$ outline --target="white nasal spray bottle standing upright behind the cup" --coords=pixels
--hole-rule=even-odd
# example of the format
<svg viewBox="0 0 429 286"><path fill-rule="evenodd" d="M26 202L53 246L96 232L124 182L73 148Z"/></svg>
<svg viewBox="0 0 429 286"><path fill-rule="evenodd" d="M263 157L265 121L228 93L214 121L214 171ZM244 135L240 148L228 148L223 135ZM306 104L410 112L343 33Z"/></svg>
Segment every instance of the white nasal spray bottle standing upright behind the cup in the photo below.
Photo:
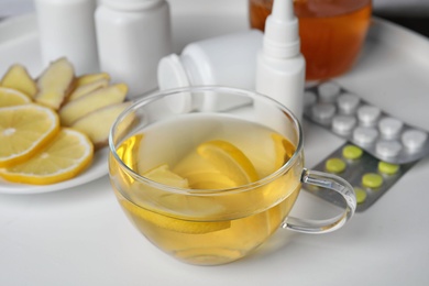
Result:
<svg viewBox="0 0 429 286"><path fill-rule="evenodd" d="M256 61L256 91L283 103L301 120L306 62L293 0L274 0Z"/></svg>

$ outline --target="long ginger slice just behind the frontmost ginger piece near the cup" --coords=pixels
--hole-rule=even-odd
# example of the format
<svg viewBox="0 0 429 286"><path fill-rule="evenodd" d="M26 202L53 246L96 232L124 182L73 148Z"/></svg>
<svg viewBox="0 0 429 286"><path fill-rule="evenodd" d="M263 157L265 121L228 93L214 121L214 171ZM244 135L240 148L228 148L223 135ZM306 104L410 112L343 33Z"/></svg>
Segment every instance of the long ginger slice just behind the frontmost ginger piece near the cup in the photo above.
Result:
<svg viewBox="0 0 429 286"><path fill-rule="evenodd" d="M58 112L61 122L65 127L70 127L79 118L99 108L122 102L125 99L127 92L127 85L117 84L97 89L86 96L69 101Z"/></svg>

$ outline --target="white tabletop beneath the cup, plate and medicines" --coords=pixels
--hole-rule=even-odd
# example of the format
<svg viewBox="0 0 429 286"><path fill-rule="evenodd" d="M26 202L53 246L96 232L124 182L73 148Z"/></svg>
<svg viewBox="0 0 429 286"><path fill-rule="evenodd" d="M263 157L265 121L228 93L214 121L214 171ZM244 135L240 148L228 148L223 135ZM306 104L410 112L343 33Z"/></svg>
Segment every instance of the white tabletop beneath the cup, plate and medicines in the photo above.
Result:
<svg viewBox="0 0 429 286"><path fill-rule="evenodd" d="M173 4L176 50L245 29L245 1L229 3ZM213 28L211 20L221 23ZM33 74L41 68L34 18L23 21L18 41L0 40L0 73L18 59ZM13 50L7 57L4 45ZM377 21L361 61L339 81L428 130L428 55L425 38ZM318 127L304 128L307 166L343 143ZM428 175L425 158L342 230L278 231L253 255L215 267L183 264L156 250L128 221L107 176L62 191L0 195L0 285L429 285ZM316 201L302 193L294 212Z"/></svg>

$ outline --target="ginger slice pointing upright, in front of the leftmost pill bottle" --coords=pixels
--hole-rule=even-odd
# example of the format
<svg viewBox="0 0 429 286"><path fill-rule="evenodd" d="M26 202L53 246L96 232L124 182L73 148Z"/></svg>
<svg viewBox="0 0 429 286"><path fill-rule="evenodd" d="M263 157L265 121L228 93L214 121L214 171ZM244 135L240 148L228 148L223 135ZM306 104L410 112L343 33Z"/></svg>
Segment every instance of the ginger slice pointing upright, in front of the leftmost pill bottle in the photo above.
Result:
<svg viewBox="0 0 429 286"><path fill-rule="evenodd" d="M52 62L37 79L38 92L35 101L58 110L75 82L75 68L67 58Z"/></svg>

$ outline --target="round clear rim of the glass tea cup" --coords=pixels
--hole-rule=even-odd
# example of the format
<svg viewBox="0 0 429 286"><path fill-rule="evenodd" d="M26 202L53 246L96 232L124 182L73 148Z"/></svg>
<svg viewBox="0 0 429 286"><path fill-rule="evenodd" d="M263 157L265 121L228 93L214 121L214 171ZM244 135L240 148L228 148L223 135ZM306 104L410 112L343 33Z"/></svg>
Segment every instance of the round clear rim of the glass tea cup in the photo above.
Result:
<svg viewBox="0 0 429 286"><path fill-rule="evenodd" d="M270 102L273 105L275 108L279 109L283 111L283 113L289 118L292 121L297 135L297 144L294 154L290 156L290 158L282 165L282 167L277 168L275 172L271 173L270 175L260 178L255 182L251 182L245 185L240 185L237 187L231 187L231 188L224 188L224 189L190 189L190 188L179 188L179 187L174 187L169 185L165 185L155 180L152 180L132 168L130 168L118 155L117 152L117 146L113 142L116 130L118 128L118 124L122 122L124 118L127 118L131 112L138 110L139 108L146 106L150 102L156 101L161 98L165 98L166 96L173 96L176 94L184 94L184 92L228 92L228 94L234 94L239 95L242 97L251 97L253 100L260 99L264 100L266 102ZM123 139L122 139L123 140ZM121 141L122 141L121 140ZM125 169L129 175L131 175L135 180L142 182L148 186L160 188L163 191L168 191L168 193L175 193L175 194L182 194L182 195L196 195L196 196L204 196L204 195L224 195L224 193L228 194L234 194L234 193L241 193L241 191L246 191L250 189L255 189L261 186L265 186L270 184L271 182L274 182L278 177L280 177L283 174L285 174L287 170L294 166L295 162L298 160L300 156L300 153L302 151L302 128L301 124L299 123L298 119L295 117L295 114L285 106L279 103L278 101L258 94L253 90L246 90L246 89L241 89L241 88L234 88L234 87L223 87L223 86L190 86L190 87L180 87L180 88L173 88L173 89L166 89L166 90L156 90L152 91L147 95L144 95L143 98L140 98L135 100L130 107L128 107L125 110L123 110L119 117L114 120L110 132L109 132L109 151L113 155L114 160L117 163L119 163L120 167Z"/></svg>

